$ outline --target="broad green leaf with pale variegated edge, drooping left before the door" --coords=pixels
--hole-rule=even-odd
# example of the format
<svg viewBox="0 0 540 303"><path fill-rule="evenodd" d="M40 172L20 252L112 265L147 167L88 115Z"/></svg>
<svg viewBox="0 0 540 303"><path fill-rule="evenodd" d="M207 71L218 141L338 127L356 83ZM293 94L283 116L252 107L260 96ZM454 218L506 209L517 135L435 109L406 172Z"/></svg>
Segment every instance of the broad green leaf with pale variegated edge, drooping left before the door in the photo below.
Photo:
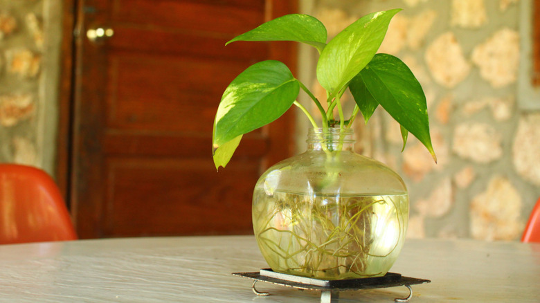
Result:
<svg viewBox="0 0 540 303"><path fill-rule="evenodd" d="M296 100L300 85L279 61L253 64L225 90L215 117L213 148L279 118Z"/></svg>

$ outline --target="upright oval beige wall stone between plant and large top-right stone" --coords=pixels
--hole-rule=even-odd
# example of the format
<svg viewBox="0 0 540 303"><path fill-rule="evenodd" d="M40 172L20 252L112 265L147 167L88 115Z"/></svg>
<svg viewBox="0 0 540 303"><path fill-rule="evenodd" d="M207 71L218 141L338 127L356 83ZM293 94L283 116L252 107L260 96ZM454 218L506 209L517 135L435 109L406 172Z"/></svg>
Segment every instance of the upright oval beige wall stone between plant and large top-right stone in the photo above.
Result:
<svg viewBox="0 0 540 303"><path fill-rule="evenodd" d="M451 32L444 33L431 42L425 58L435 81L447 88L458 85L471 71L456 36Z"/></svg>

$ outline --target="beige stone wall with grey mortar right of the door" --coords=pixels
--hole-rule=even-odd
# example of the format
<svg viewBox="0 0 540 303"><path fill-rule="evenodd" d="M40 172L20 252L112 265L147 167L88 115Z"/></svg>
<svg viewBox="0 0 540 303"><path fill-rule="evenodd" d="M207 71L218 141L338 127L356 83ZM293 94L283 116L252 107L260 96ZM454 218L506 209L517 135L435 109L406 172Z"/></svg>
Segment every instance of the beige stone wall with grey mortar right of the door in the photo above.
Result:
<svg viewBox="0 0 540 303"><path fill-rule="evenodd" d="M523 0L525 1L525 0ZM377 110L358 150L393 167L411 196L408 237L516 240L540 197L540 113L520 110L518 0L303 1L332 37L368 12L404 8L381 52L400 57L428 102L438 164ZM314 70L316 55L309 53ZM321 91L314 77L304 81ZM352 98L345 96L350 108ZM380 107L379 107L380 108Z"/></svg>

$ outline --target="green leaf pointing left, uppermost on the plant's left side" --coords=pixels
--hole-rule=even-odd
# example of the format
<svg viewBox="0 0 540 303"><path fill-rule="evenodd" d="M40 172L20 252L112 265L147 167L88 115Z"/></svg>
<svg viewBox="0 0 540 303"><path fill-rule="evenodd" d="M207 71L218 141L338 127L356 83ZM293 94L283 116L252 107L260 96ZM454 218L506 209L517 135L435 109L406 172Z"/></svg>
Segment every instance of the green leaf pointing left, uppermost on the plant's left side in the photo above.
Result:
<svg viewBox="0 0 540 303"><path fill-rule="evenodd" d="M233 38L235 41L296 41L315 46L319 53L326 45L326 28L309 15L285 15Z"/></svg>

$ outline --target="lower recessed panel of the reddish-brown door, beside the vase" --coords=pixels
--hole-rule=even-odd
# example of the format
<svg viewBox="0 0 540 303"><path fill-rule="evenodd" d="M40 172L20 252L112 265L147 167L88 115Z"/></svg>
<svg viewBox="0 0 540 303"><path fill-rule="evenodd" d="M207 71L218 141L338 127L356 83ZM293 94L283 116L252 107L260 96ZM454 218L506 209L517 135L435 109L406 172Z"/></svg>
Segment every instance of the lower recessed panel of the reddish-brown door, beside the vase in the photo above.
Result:
<svg viewBox="0 0 540 303"><path fill-rule="evenodd" d="M253 159L235 164L216 174L206 159L110 158L106 234L171 235L181 230L208 235L251 230L246 218L251 218L254 184L236 181L256 180L259 163ZM152 203L138 203L141 200Z"/></svg>

